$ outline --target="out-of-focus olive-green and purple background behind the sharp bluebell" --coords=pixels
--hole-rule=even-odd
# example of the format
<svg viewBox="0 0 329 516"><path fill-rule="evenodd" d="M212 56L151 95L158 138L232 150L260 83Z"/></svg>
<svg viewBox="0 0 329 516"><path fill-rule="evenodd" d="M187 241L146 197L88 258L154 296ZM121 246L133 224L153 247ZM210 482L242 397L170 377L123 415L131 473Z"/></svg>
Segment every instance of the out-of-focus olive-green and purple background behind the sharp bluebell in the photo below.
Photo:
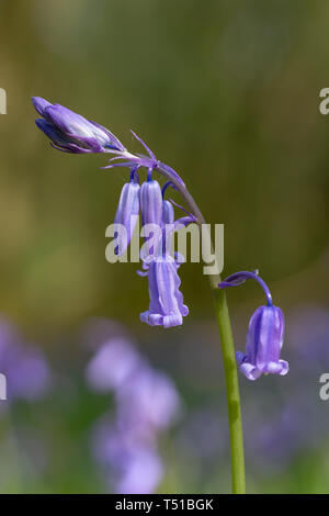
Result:
<svg viewBox="0 0 329 516"><path fill-rule="evenodd" d="M1 492L229 490L223 367L201 266L180 269L183 326L143 326L146 281L136 265L104 256L126 172L99 170L102 155L52 149L32 96L137 150L135 130L184 177L207 222L225 224L227 273L260 269L286 316L291 372L240 378L248 490L329 490L329 402L319 397L329 372L329 116L319 112L328 15L320 0L0 0L0 371L12 390L0 402ZM262 292L250 282L228 299L243 349ZM110 377L101 388L90 380L106 343L121 351L118 362L114 348L105 354L102 373L106 363L110 377L113 363L125 370L135 350L140 382L162 378L164 422L140 422L140 412L122 423L128 394L122 402ZM127 450L121 425L146 425L147 438L136 430ZM150 483L136 486L140 478Z"/></svg>

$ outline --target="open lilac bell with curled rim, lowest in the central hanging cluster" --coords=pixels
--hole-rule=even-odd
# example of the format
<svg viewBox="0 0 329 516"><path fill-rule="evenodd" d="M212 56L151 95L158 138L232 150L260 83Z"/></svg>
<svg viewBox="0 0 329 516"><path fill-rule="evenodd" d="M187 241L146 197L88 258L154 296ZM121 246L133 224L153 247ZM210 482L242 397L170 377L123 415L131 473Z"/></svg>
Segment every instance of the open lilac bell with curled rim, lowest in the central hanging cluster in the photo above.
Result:
<svg viewBox="0 0 329 516"><path fill-rule="evenodd" d="M180 291L181 280L173 258L163 256L149 263L148 290L149 309L140 314L140 321L150 326L170 328L183 324L183 316L189 309L183 304Z"/></svg>

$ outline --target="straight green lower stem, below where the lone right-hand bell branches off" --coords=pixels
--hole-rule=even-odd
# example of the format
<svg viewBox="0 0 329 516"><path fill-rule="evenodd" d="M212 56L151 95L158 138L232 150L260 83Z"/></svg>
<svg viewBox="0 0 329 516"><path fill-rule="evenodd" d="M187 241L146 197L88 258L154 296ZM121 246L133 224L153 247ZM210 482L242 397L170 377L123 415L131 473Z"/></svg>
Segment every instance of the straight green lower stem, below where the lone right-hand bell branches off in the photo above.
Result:
<svg viewBox="0 0 329 516"><path fill-rule="evenodd" d="M224 290L213 290L217 324L222 341L222 354L226 381L226 399L231 457L232 493L246 493L245 453L239 381L235 357L235 345Z"/></svg>

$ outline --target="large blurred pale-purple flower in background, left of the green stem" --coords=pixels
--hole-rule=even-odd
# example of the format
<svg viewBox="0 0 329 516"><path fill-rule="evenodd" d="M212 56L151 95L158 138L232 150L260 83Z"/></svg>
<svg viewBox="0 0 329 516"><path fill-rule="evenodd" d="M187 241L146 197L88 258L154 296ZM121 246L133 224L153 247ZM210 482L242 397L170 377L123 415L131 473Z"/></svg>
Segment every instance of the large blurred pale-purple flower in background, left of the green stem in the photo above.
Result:
<svg viewBox="0 0 329 516"><path fill-rule="evenodd" d="M115 414L92 430L97 461L117 493L152 493L164 473L161 434L177 420L181 401L173 382L155 370L134 345L107 338L90 360L86 378L98 392L112 392Z"/></svg>

